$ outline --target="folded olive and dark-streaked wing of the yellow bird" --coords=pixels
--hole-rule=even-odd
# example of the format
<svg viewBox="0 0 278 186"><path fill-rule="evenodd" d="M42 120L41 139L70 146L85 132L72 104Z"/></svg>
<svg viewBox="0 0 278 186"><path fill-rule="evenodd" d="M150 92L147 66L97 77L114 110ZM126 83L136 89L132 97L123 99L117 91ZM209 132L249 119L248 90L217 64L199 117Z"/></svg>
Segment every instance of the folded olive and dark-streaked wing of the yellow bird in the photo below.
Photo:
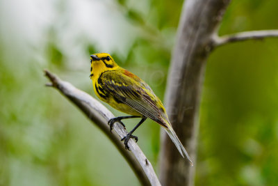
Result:
<svg viewBox="0 0 278 186"><path fill-rule="evenodd" d="M106 71L99 77L98 84L106 92L111 93L115 100L120 100L167 128L167 122L165 122L167 115L161 100L154 95L152 89L142 79L138 77L134 79L131 75L124 75L122 71Z"/></svg>

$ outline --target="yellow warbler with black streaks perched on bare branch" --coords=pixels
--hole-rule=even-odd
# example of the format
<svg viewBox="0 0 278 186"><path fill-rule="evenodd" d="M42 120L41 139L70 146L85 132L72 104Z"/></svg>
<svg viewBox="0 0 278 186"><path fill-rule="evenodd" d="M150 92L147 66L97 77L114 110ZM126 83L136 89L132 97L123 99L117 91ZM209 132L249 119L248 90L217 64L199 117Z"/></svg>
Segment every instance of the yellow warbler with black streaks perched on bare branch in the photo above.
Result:
<svg viewBox="0 0 278 186"><path fill-rule="evenodd" d="M170 124L161 100L157 98L149 85L136 75L133 75L133 73L117 65L110 54L93 54L90 56L90 61L90 79L92 79L92 85L94 86L97 97L115 109L131 115L112 118L108 121L111 130L116 121L124 125L121 122L122 119L141 118L141 121L136 127L122 139L122 141L124 140L126 149L129 149L129 139L133 138L136 142L138 141L138 137L132 135L133 132L147 118L151 118L164 127L182 157L186 155L190 164L193 165L186 149L181 144L181 141L179 141L177 134Z"/></svg>

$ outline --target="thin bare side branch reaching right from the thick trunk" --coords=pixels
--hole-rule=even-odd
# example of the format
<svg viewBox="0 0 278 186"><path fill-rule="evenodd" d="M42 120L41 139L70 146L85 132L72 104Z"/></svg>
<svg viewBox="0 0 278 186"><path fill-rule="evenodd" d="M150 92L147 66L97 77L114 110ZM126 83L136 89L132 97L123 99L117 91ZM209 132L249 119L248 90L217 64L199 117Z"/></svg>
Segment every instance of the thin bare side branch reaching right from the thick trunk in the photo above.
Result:
<svg viewBox="0 0 278 186"><path fill-rule="evenodd" d="M227 36L215 36L213 38L213 47L226 45L230 42L238 42L244 40L262 40L264 38L278 38L278 30L244 31Z"/></svg>

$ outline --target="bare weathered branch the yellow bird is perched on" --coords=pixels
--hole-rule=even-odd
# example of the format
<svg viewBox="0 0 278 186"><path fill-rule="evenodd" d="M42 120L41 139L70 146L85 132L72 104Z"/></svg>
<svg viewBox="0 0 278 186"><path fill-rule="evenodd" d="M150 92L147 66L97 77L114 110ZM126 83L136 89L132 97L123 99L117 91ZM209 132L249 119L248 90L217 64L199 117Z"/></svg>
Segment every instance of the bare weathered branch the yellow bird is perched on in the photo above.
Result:
<svg viewBox="0 0 278 186"><path fill-rule="evenodd" d="M120 139L127 134L124 127L122 127L120 123L115 123L113 132L110 132L110 127L107 123L110 118L115 117L111 111L104 107L99 101L88 95L88 93L80 91L68 82L62 81L48 70L44 70L44 72L52 83L47 84L47 86L57 88L60 93L76 104L76 106L79 107L79 109L81 109L81 111L83 111L83 113L88 116L88 118L90 118L90 120L95 123L109 139L111 139L113 144L129 163L131 169L136 173L136 176L142 185L161 185L151 162L147 160L147 157L142 153L142 150L136 142L133 139L129 140L129 148L131 151L124 148L124 144L120 141Z"/></svg>

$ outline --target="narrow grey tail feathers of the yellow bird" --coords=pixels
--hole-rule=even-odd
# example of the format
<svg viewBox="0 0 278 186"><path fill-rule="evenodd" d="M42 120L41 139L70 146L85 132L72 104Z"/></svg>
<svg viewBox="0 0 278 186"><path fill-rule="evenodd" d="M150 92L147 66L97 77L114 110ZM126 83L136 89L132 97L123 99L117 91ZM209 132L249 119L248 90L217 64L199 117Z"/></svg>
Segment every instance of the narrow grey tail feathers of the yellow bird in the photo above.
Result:
<svg viewBox="0 0 278 186"><path fill-rule="evenodd" d="M166 127L164 127L164 128L165 128L167 134L169 135L170 139L172 139L174 145L179 150L179 153L181 153L181 156L184 157L184 155L186 155L186 158L190 162L190 165L193 166L192 160L190 159L188 153L186 152L186 149L181 144L181 141L179 141L179 138L177 137L176 132L174 132L174 129L172 128L172 126L168 125L167 128Z"/></svg>

